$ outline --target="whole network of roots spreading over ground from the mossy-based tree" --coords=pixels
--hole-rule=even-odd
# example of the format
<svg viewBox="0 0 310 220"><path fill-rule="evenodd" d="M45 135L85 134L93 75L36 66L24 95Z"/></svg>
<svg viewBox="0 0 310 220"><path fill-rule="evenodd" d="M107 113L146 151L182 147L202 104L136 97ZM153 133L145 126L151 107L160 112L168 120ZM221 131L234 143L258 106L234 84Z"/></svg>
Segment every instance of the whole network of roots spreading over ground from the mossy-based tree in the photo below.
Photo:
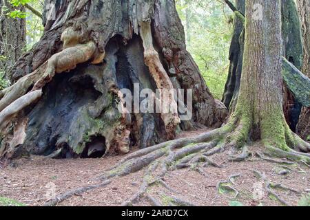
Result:
<svg viewBox="0 0 310 220"><path fill-rule="evenodd" d="M158 201L152 195L149 195L149 190L153 186L162 186L166 190L175 192L173 188L165 182L165 177L169 171L183 168L190 168L197 172L198 175L205 176L203 168L214 166L221 168L222 164L218 164L211 159L212 155L226 153L229 155L226 159L229 162L242 162L245 159L262 159L268 162L280 165L297 165L309 166L310 155L307 153L299 153L297 151L283 151L280 148L265 146L238 147L238 142L241 141L242 126L236 125L236 121L231 120L227 125L214 131L209 131L195 137L185 137L169 142L164 142L156 146L144 148L127 155L121 159L116 165L105 170L103 175L99 177L102 183L96 186L86 186L65 192L59 195L56 199L45 203L46 206L56 205L59 201L72 197L75 193L85 192L94 188L100 188L110 184L115 178L131 175L137 171L143 170L143 180L138 191L126 201L123 201L122 206L133 206L141 199L146 199L151 205L162 206L163 202ZM278 157L278 158L275 158ZM223 159L223 163L225 159ZM288 206L289 203L282 199L274 191L275 188L287 190L288 192L298 193L298 190L282 186L281 184L273 184L263 173L259 170L253 170L254 175L264 182L265 190L269 197L278 200L282 205ZM217 184L219 191L232 192L234 197L239 195L238 190L234 187L234 180L240 175L231 174L229 181L220 181ZM180 199L178 197L169 197L169 203L165 205L170 206L194 206L190 201Z"/></svg>

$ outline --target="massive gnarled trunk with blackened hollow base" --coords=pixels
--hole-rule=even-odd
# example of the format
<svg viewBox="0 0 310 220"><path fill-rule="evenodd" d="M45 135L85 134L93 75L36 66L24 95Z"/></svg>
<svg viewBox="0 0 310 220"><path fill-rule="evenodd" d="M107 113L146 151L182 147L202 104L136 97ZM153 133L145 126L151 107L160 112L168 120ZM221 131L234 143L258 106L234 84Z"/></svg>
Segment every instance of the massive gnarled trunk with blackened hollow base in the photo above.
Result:
<svg viewBox="0 0 310 220"><path fill-rule="evenodd" d="M56 16L47 19L50 12ZM47 0L43 23L41 41L14 66L17 83L2 91L0 111L10 111L0 114L16 115L13 101L30 90L43 89L42 97L6 121L0 155L100 157L174 138L178 113L118 112L119 103L127 107L121 89L134 92L134 83L193 89L193 118L182 129L226 118L186 50L173 0Z"/></svg>

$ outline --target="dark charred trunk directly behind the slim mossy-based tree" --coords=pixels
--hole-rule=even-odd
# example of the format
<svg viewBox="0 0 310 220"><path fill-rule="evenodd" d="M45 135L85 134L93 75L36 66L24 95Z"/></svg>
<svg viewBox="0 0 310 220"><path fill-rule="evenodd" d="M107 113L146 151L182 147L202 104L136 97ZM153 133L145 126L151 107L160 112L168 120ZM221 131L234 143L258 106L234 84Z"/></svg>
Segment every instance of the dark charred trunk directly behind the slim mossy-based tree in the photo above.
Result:
<svg viewBox="0 0 310 220"><path fill-rule="evenodd" d="M236 1L236 8L240 12L244 12L245 1ZM293 0L281 1L281 13L282 13L282 39L284 39L283 54L288 61L293 63L298 69L302 64L302 41L300 38L300 22L298 19L298 13L296 5ZM242 56L244 47L244 36L240 29L242 22L238 17L235 19L234 35L231 41L230 49L230 67L229 75L227 78L227 84L225 86L225 92L223 95L223 102L230 112L234 111L236 107L236 101L238 98L238 91L240 87L240 74L242 71ZM242 27L242 26L241 26ZM238 39L238 41L237 41ZM240 42L239 42L240 41ZM301 104L295 100L291 91L286 87L283 88L285 118L289 123L291 129L295 131L298 118L300 115Z"/></svg>

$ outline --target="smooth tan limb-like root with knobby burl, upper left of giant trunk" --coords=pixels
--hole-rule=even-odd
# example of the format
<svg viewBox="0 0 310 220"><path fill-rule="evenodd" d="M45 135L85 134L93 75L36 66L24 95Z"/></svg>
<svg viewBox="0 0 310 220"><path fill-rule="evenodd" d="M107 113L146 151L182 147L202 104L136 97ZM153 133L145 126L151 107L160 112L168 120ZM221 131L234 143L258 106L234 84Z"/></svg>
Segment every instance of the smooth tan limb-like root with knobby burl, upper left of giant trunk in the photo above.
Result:
<svg viewBox="0 0 310 220"><path fill-rule="evenodd" d="M7 108L15 100L28 99L28 91L40 90L49 83L55 74L74 69L76 65L85 63L91 59L95 63L103 61L103 55L96 53L97 48L93 41L81 43L85 41L85 28L81 23L74 23L72 27L67 28L61 35L63 41L63 50L54 54L46 63L41 65L31 74L23 76L17 83L0 92L0 112ZM99 59L101 57L101 59ZM30 93L33 96L33 93ZM38 98L38 97L37 97ZM32 100L33 101L33 100ZM19 111L23 108L19 108ZM17 111L15 111L17 113Z"/></svg>

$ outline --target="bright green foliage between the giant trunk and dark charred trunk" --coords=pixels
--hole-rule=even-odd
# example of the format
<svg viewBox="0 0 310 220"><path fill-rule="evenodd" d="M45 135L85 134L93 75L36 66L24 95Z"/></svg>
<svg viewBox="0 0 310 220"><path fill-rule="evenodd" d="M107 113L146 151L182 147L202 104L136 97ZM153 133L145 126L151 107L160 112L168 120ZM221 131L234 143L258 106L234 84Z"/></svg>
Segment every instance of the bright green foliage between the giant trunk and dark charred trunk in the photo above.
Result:
<svg viewBox="0 0 310 220"><path fill-rule="evenodd" d="M192 54L207 86L221 99L229 67L233 13L214 0L176 0L183 22L187 50Z"/></svg>

